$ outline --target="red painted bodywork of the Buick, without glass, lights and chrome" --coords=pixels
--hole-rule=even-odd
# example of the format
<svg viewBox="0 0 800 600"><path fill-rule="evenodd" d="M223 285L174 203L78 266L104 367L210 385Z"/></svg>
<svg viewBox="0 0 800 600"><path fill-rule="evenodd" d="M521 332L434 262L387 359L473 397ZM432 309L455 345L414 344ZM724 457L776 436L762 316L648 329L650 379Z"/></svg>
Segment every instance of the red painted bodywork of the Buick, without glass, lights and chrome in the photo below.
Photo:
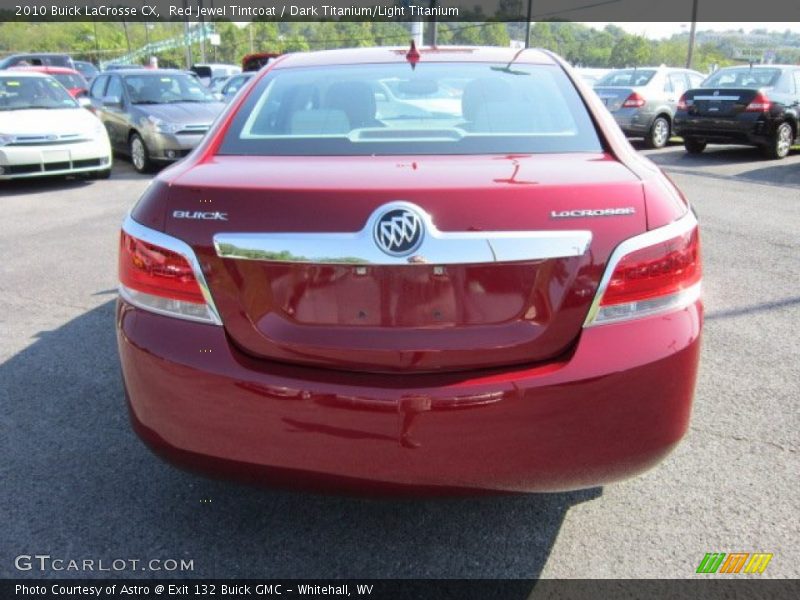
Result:
<svg viewBox="0 0 800 600"><path fill-rule="evenodd" d="M257 78L301 66L402 62L406 52L287 55ZM219 155L247 100L238 97L131 213L192 248L223 324L120 300L132 420L160 454L225 476L360 492L552 491L632 476L680 440L697 371L700 301L633 320L584 321L597 309L615 249L683 220L685 199L557 57L499 48L419 54L419 64L561 65L604 150ZM589 229L591 246L571 258L363 272L220 258L213 246L220 231L356 232L397 199L429 212L442 232ZM632 214L551 215L575 209ZM222 211L228 220L221 227L170 217L186 210ZM653 268L683 260L675 256ZM697 281L699 262L690 283Z"/></svg>

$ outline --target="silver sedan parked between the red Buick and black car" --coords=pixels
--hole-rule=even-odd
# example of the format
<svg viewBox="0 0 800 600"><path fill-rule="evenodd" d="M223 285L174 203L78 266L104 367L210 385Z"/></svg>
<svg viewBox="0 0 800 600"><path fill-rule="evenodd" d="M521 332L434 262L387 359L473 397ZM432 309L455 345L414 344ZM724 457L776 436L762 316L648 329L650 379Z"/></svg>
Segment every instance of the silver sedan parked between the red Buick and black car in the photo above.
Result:
<svg viewBox="0 0 800 600"><path fill-rule="evenodd" d="M627 136L643 137L648 148L663 148L672 135L678 100L703 79L689 69L617 69L600 79L594 91Z"/></svg>

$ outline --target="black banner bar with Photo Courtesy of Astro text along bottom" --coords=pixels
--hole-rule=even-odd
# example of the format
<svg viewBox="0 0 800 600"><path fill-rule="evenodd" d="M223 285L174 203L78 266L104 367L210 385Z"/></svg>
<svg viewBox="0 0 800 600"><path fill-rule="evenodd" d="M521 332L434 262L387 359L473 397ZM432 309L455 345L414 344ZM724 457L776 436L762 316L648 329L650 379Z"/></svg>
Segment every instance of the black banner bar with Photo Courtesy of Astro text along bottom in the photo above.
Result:
<svg viewBox="0 0 800 600"><path fill-rule="evenodd" d="M4 600L137 600L201 598L362 598L368 600L789 600L800 597L800 580L760 576L693 579L59 579L3 580Z"/></svg>

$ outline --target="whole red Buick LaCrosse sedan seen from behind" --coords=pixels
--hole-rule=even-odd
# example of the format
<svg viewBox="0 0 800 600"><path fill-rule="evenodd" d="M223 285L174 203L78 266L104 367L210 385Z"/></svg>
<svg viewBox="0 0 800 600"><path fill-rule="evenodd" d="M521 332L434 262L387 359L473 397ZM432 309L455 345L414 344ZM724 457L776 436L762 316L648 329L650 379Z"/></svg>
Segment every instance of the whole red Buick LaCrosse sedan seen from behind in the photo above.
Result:
<svg viewBox="0 0 800 600"><path fill-rule="evenodd" d="M558 57L283 56L121 233L135 430L186 468L557 491L688 426L694 213Z"/></svg>

